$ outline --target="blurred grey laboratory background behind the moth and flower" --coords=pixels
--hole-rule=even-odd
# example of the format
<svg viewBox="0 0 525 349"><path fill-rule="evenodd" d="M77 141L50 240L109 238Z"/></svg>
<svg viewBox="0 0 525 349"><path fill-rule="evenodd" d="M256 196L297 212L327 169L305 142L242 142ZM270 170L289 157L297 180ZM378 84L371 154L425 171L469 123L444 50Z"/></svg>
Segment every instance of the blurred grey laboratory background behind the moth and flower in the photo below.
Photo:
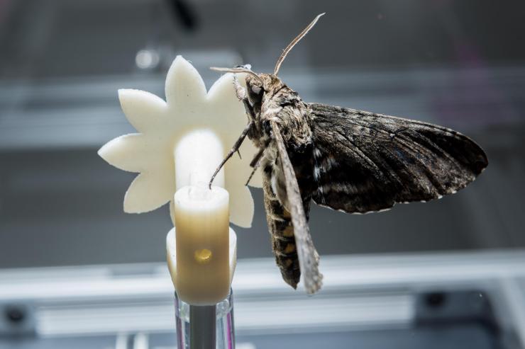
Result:
<svg viewBox="0 0 525 349"><path fill-rule="evenodd" d="M164 96L175 55L272 71L304 101L454 128L487 170L436 202L313 207L325 288L289 289L262 192L238 235L238 348L525 348L525 2L0 0L0 349L175 348L168 208L96 154L134 132L118 88Z"/></svg>

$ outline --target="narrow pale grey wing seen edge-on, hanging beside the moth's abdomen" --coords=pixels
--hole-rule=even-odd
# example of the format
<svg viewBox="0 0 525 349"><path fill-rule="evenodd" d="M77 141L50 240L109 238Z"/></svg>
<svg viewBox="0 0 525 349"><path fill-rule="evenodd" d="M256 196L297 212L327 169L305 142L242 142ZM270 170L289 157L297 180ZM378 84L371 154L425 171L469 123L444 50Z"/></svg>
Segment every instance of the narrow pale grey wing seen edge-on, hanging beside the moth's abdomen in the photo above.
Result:
<svg viewBox="0 0 525 349"><path fill-rule="evenodd" d="M295 244L297 245L297 256L299 257L299 268L301 268L303 275L304 288L306 288L306 293L314 294L319 291L323 284L323 275L319 273L319 254L316 251L314 242L311 241L310 229L306 221L306 213L304 212L297 176L284 146L281 132L275 121L271 121L270 125L284 174L289 212L292 216Z"/></svg>

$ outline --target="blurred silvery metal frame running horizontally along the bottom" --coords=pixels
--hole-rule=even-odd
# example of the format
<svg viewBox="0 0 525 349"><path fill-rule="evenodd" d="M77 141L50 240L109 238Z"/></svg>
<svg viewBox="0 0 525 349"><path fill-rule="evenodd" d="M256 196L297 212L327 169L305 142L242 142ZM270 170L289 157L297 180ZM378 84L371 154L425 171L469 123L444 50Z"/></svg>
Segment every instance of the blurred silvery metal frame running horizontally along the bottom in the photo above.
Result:
<svg viewBox="0 0 525 349"><path fill-rule="evenodd" d="M502 333L525 347L524 250L324 256L321 269L323 291L306 297L282 282L272 259L239 260L232 286L236 333L409 328L417 294L477 290L490 296ZM26 311L31 321L22 334L38 338L174 328L164 263L0 270L0 307ZM275 316L276 309L286 311ZM13 331L6 319L0 336Z"/></svg>

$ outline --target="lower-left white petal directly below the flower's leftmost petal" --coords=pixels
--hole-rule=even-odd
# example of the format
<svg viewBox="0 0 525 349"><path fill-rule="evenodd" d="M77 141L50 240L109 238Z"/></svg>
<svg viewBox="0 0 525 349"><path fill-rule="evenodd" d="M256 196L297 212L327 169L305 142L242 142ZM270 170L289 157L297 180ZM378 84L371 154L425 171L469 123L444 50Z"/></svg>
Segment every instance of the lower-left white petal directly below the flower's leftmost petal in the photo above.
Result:
<svg viewBox="0 0 525 349"><path fill-rule="evenodd" d="M172 174L172 173L170 173ZM149 212L173 198L175 181L162 171L140 173L124 197L124 212Z"/></svg>

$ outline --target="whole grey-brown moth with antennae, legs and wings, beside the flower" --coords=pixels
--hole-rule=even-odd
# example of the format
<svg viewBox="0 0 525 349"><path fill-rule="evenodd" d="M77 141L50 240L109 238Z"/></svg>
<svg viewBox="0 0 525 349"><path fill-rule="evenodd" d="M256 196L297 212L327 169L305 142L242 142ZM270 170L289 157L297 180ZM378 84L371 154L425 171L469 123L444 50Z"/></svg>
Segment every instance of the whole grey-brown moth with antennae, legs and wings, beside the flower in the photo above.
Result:
<svg viewBox="0 0 525 349"><path fill-rule="evenodd" d="M277 73L284 57L323 15L317 16L277 59L273 74L250 67L212 68L246 73L236 81L248 125L245 137L258 154L272 248L282 277L308 294L322 285L319 255L308 227L310 202L348 213L387 210L398 202L428 201L474 181L488 161L472 139L446 127L360 110L305 103Z"/></svg>

